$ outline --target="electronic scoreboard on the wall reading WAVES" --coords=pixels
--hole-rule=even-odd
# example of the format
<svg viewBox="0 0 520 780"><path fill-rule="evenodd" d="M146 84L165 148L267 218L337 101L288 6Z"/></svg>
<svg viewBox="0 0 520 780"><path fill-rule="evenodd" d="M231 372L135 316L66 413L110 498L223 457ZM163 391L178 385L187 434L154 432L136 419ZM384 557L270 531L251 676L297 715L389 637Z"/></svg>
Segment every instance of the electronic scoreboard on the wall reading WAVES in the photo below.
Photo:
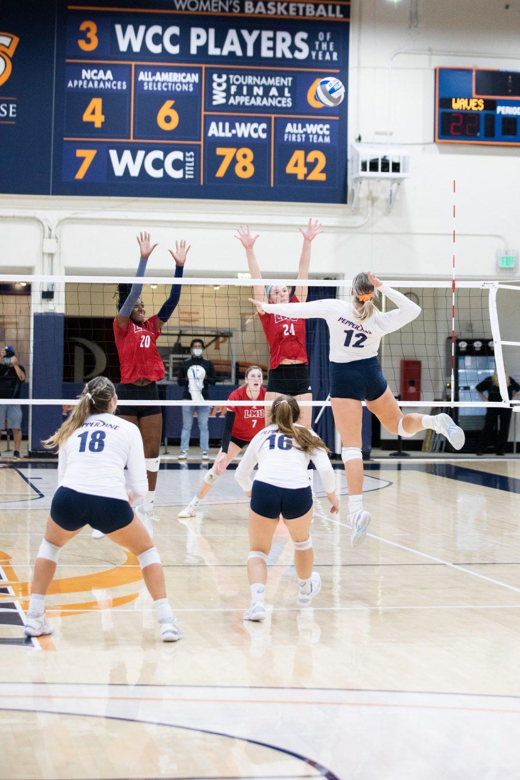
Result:
<svg viewBox="0 0 520 780"><path fill-rule="evenodd" d="M437 143L520 145L520 73L437 68Z"/></svg>

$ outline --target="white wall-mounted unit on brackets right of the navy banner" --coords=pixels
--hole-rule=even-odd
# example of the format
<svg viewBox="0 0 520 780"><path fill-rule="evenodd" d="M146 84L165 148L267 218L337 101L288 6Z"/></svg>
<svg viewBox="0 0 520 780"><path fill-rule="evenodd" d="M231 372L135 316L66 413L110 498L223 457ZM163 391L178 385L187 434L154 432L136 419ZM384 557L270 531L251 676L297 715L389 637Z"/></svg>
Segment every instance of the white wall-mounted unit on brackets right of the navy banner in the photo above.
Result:
<svg viewBox="0 0 520 780"><path fill-rule="evenodd" d="M352 211L359 211L359 198L364 182L380 182L387 191L387 214L398 200L399 187L410 176L410 155L397 144L352 144L351 161Z"/></svg>

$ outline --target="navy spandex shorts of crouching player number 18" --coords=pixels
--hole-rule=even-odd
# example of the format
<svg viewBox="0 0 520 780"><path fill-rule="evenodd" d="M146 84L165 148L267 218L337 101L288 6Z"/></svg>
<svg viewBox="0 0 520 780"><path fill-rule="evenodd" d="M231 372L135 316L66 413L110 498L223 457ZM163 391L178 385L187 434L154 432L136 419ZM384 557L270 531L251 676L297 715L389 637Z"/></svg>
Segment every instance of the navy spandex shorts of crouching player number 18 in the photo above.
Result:
<svg viewBox="0 0 520 780"><path fill-rule="evenodd" d="M51 518L65 531L90 526L102 534L111 534L132 523L133 509L122 498L105 498L70 488L58 488L52 499Z"/></svg>

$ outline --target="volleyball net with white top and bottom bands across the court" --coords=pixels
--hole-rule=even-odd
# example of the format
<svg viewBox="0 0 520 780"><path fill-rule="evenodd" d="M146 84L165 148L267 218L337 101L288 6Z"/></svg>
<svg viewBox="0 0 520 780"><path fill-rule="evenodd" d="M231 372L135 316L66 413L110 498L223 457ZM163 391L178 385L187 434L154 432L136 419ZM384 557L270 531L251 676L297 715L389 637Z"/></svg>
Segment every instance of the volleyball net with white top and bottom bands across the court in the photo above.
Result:
<svg viewBox="0 0 520 780"><path fill-rule="evenodd" d="M157 314L172 278L0 275L0 340L12 346L27 373L20 399L2 403L67 407L76 402L85 381L104 375L120 380L113 321L118 282L143 282L146 317ZM255 284L295 285L294 279L183 278L180 301L162 328L157 349L164 362L159 405L222 408L229 392L244 381L249 366L260 366L267 382L269 350L256 308L249 302ZM498 282L459 282L455 307L451 282L387 282L421 307L421 314L398 331L384 335L380 361L401 406L508 406L508 374L520 365L518 312L520 287ZM350 280L311 279L308 300L350 299ZM381 296L381 310L394 303ZM281 317L286 320L286 318ZM505 325L504 325L505 324ZM507 331L501 335L501 328ZM284 325L282 325L284 327ZM291 322L285 321L290 335ZM190 356L193 339L203 342L203 357L214 364L217 383L207 401L184 399L178 374ZM313 401L328 406L329 335L323 320L306 321ZM494 375L500 399L483 400L476 386ZM5 395L5 393L3 394ZM121 401L120 406L132 404ZM143 405L157 402L144 402ZM242 402L246 404L246 402ZM511 405L518 403L513 400ZM467 412L466 412L467 413ZM51 431L49 431L51 432Z"/></svg>

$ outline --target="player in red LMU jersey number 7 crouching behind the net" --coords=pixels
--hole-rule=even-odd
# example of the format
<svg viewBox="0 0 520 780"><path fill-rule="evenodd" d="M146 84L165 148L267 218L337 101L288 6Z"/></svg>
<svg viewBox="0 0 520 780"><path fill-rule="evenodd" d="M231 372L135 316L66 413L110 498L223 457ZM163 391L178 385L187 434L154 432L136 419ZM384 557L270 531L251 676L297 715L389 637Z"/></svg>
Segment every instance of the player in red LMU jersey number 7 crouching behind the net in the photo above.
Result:
<svg viewBox="0 0 520 780"><path fill-rule="evenodd" d="M246 371L246 384L233 390L229 395L221 449L213 466L204 477L199 491L186 509L179 512L179 517L196 516L200 502L206 498L218 477L225 472L239 452L242 452L242 447L248 445L249 441L264 427L264 406L233 406L234 401L264 401L266 391L262 386L263 381L262 369L258 366L249 366Z"/></svg>

